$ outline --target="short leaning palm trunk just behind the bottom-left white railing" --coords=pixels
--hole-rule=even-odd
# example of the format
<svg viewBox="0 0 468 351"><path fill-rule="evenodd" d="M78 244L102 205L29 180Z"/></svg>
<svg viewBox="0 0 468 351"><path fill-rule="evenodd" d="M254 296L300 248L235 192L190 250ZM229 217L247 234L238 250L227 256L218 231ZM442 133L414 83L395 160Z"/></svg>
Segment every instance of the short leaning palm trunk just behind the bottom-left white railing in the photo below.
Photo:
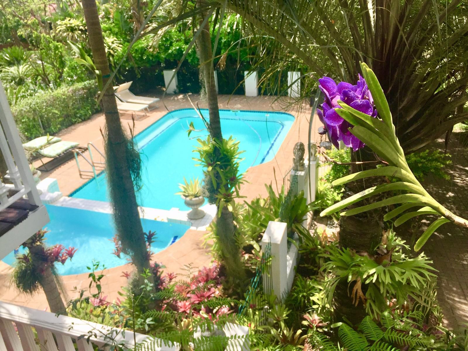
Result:
<svg viewBox="0 0 468 351"><path fill-rule="evenodd" d="M34 264L35 269L38 271L44 270L39 284L44 290L51 312L66 315L66 307L63 303L62 297L60 296L60 290L52 272L52 266L49 264L45 266L44 269L44 263L47 262L47 257L44 257L44 247L42 244L27 244L27 248L29 249L31 261Z"/></svg>

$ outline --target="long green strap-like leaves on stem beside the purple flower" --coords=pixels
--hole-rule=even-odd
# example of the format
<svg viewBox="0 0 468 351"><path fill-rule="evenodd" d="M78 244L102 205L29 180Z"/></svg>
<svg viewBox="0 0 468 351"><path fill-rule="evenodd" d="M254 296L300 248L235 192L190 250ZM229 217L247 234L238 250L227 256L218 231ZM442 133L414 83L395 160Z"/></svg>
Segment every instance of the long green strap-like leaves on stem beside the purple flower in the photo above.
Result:
<svg viewBox="0 0 468 351"><path fill-rule="evenodd" d="M322 211L320 215L325 216L338 212L349 205L376 194L380 194L386 191L400 190L406 191L407 193L392 196L385 200L377 201L369 205L353 208L351 210L341 212L340 214L342 216L351 216L379 207L402 204L400 207L397 207L395 210L388 212L384 216L384 220L398 217L394 223L396 227L415 216L424 214L439 215L440 217L431 223L431 225L424 231L424 233L416 242L414 248L416 251L421 249L431 234L444 223L453 222L458 226L468 228L467 219L463 219L455 215L454 213L447 210L444 206L439 204L439 202L431 197L431 195L423 188L421 183L418 182L408 166L403 149L395 135L395 126L392 124L392 115L388 108L388 102L385 98L382 88L380 87L377 77L365 63L361 63L361 69L364 75L364 79L366 80L366 84L369 87L369 96L372 96L380 118L375 118L371 116L371 114L367 114L366 111L363 112L356 110L340 99L336 101L340 108L336 108L335 112L344 121L349 123L349 127L347 128L348 131L351 132L351 134L358 138L361 142L371 147L375 154L388 163L388 166L365 170L351 174L349 176L344 176L334 181L332 185L343 185L371 176L396 177L399 178L400 181L373 186L369 189L361 191L355 195L347 197L335 205L330 206L329 208ZM414 207L419 207L419 209L416 211L403 213L406 210Z"/></svg>

